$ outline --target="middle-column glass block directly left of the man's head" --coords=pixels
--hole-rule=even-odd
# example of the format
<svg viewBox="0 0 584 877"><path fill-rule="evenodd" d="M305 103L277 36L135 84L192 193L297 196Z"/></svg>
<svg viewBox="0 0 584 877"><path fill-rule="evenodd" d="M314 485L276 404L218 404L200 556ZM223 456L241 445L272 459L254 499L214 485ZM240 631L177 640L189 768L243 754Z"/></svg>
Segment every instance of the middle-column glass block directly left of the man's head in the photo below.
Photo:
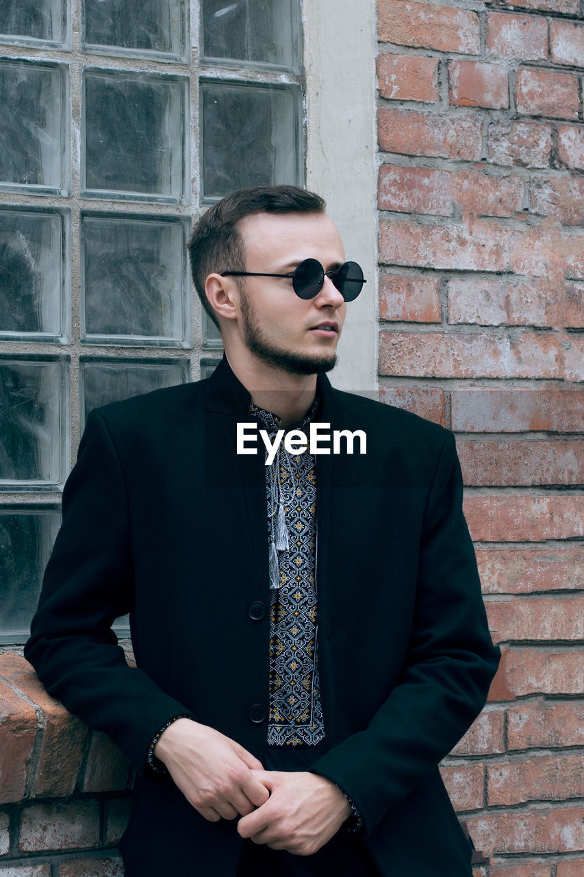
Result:
<svg viewBox="0 0 584 877"><path fill-rule="evenodd" d="M82 215L82 342L190 346L188 228L188 217Z"/></svg>

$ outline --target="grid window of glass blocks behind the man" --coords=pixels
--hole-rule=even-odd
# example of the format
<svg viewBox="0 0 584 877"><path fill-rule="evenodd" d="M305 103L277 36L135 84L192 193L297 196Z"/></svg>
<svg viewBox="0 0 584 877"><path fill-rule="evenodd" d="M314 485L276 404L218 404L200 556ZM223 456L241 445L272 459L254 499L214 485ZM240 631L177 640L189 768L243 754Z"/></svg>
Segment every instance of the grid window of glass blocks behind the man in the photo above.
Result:
<svg viewBox="0 0 584 877"><path fill-rule="evenodd" d="M302 44L301 0L0 0L0 643L89 411L217 367L186 241L232 189L303 185Z"/></svg>

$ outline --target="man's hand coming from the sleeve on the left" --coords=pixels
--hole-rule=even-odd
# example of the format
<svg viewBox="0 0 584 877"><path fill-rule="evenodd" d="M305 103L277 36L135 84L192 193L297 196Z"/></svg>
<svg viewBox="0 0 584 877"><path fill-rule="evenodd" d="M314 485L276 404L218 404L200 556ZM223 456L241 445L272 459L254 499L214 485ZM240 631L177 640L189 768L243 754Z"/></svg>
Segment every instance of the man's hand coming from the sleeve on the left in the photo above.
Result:
<svg viewBox="0 0 584 877"><path fill-rule="evenodd" d="M267 801L253 770L261 762L243 746L205 724L179 718L154 748L189 804L210 822L246 816Z"/></svg>

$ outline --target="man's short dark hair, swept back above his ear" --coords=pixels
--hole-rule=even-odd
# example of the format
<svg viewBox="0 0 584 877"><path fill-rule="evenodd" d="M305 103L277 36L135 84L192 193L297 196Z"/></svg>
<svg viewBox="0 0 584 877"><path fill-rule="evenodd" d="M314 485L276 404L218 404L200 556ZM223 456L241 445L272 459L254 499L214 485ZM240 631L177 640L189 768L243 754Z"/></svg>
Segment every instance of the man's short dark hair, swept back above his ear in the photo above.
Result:
<svg viewBox="0 0 584 877"><path fill-rule="evenodd" d="M205 281L214 271L246 270L240 221L257 213L324 213L325 207L319 195L296 186L252 186L231 192L203 214L187 246L195 289L216 325L217 317L205 295Z"/></svg>

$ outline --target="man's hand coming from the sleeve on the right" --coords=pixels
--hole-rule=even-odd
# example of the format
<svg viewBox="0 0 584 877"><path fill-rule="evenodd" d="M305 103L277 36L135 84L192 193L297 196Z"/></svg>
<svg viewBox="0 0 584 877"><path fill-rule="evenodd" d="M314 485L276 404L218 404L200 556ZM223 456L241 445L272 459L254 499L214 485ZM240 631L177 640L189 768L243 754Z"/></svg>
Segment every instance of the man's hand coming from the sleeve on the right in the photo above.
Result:
<svg viewBox="0 0 584 877"><path fill-rule="evenodd" d="M318 774L253 770L270 790L267 802L239 820L242 838L310 856L326 844L351 816L345 795Z"/></svg>

